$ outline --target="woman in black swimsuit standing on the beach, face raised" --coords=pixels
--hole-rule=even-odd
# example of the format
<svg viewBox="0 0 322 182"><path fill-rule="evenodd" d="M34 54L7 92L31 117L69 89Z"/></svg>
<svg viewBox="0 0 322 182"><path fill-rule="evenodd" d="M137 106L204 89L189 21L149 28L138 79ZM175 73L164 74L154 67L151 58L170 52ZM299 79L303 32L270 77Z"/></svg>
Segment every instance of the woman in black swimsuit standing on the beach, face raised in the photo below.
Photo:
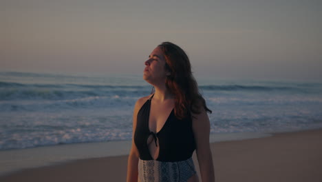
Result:
<svg viewBox="0 0 322 182"><path fill-rule="evenodd" d="M143 79L155 92L136 101L127 181L198 181L191 156L196 150L202 181L215 181L206 102L178 45L158 45L144 63Z"/></svg>

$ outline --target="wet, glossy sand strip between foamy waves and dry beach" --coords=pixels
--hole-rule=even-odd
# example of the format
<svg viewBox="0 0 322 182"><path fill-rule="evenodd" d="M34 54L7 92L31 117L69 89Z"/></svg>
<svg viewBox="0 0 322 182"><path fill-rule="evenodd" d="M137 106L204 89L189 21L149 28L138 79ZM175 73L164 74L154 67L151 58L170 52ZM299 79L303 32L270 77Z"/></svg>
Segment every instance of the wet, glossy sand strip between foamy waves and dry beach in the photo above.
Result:
<svg viewBox="0 0 322 182"><path fill-rule="evenodd" d="M237 141L271 136L259 132L211 134L210 142ZM131 141L70 143L17 150L0 151L0 176L30 168L59 165L82 159L123 156L129 154Z"/></svg>

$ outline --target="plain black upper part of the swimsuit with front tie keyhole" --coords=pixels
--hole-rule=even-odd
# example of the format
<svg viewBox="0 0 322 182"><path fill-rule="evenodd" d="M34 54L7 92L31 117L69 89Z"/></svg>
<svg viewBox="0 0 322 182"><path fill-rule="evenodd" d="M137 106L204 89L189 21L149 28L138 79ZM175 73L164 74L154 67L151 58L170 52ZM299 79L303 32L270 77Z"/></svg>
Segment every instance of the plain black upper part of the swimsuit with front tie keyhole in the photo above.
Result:
<svg viewBox="0 0 322 182"><path fill-rule="evenodd" d="M160 145L159 156L156 161L173 162L189 159L195 150L195 138L190 115L182 120L177 119L173 109L162 129L156 134L151 132L149 130L149 113L153 96L154 94L138 111L134 142L138 148L140 159L153 160L147 144L150 134L153 135L155 145L157 145L157 140Z"/></svg>

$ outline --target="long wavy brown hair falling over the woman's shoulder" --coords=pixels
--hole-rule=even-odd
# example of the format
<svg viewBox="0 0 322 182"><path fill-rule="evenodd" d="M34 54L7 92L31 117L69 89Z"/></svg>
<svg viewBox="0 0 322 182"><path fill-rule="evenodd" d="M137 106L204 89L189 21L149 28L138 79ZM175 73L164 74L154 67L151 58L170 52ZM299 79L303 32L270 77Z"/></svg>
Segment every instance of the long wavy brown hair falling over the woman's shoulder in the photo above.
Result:
<svg viewBox="0 0 322 182"><path fill-rule="evenodd" d="M186 52L171 42L163 42L158 47L162 50L166 60L164 67L170 72L165 83L170 92L175 95L175 117L184 119L191 112L200 114L200 108L212 113L198 90ZM154 88L152 92L153 90Z"/></svg>

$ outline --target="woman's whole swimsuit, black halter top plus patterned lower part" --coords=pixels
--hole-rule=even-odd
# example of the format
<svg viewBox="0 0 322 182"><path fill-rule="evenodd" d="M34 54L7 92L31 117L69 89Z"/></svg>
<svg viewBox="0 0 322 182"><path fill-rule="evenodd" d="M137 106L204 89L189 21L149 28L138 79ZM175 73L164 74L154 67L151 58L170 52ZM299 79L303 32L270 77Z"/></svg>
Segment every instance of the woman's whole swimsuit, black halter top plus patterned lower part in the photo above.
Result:
<svg viewBox="0 0 322 182"><path fill-rule="evenodd" d="M134 133L134 143L140 155L138 178L141 182L186 182L196 174L191 157L195 150L191 115L180 120L175 117L174 110L172 110L160 132L156 134L151 132L149 113L153 95L138 111ZM149 145L155 144L159 147L159 156L156 160L153 160L147 144L147 139L151 134L155 143L151 142Z"/></svg>

